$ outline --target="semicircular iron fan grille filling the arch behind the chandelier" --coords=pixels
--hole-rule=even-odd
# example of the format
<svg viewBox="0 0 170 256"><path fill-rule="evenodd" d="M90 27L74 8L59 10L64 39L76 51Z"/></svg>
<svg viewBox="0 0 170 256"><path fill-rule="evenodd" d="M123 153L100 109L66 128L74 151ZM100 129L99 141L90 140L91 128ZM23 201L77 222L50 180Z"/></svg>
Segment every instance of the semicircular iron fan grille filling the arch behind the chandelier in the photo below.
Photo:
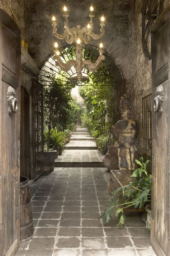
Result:
<svg viewBox="0 0 170 256"><path fill-rule="evenodd" d="M89 59L95 62L99 57L99 47L94 45L84 45L83 59ZM75 45L66 45L60 48L61 58L63 62L69 59L76 59ZM41 67L38 80L42 84L48 84L52 78L58 80L63 85L112 85L117 87L123 80L123 74L119 67L115 64L114 59L109 53L105 52L105 60L103 66L95 72L90 72L86 67L82 70L83 79L78 81L77 72L74 67L69 71L62 71L55 65L54 53L50 55Z"/></svg>

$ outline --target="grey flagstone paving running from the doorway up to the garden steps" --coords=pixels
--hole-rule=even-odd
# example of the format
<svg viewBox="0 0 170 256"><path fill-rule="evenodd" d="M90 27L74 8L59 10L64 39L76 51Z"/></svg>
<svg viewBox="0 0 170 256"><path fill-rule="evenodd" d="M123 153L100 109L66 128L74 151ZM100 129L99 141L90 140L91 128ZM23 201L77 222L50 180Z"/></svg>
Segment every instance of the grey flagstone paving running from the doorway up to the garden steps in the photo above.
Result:
<svg viewBox="0 0 170 256"><path fill-rule="evenodd" d="M92 151L65 150L60 160L101 161L103 155ZM34 237L16 255L155 256L141 214L127 214L121 228L115 215L107 224L99 220L110 199L108 186L106 168L56 167L44 173L30 185Z"/></svg>

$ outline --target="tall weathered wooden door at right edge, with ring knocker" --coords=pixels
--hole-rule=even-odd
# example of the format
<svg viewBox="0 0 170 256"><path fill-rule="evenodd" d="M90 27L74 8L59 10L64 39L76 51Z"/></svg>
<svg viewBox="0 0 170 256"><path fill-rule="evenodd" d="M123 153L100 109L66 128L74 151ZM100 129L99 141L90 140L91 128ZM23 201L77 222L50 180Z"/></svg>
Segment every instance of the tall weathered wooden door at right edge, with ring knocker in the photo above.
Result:
<svg viewBox="0 0 170 256"><path fill-rule="evenodd" d="M151 32L153 150L151 243L157 255L170 255L170 7Z"/></svg>

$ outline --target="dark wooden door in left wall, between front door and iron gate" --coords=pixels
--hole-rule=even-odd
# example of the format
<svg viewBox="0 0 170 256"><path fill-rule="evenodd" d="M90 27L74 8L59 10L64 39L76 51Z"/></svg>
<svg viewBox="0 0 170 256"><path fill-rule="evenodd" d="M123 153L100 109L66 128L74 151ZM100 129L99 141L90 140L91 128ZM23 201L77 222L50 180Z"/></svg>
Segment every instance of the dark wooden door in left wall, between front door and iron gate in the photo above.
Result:
<svg viewBox="0 0 170 256"><path fill-rule="evenodd" d="M21 86L20 175L31 178L30 94Z"/></svg>

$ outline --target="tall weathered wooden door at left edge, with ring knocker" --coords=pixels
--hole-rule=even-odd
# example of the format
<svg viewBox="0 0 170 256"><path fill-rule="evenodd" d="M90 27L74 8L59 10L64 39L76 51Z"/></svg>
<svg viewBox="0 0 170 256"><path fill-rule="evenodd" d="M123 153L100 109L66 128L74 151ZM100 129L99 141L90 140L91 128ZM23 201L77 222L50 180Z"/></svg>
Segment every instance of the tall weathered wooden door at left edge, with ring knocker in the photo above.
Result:
<svg viewBox="0 0 170 256"><path fill-rule="evenodd" d="M0 255L19 247L20 29L0 9ZM17 100L17 101L16 101ZM16 113L14 113L16 112Z"/></svg>

